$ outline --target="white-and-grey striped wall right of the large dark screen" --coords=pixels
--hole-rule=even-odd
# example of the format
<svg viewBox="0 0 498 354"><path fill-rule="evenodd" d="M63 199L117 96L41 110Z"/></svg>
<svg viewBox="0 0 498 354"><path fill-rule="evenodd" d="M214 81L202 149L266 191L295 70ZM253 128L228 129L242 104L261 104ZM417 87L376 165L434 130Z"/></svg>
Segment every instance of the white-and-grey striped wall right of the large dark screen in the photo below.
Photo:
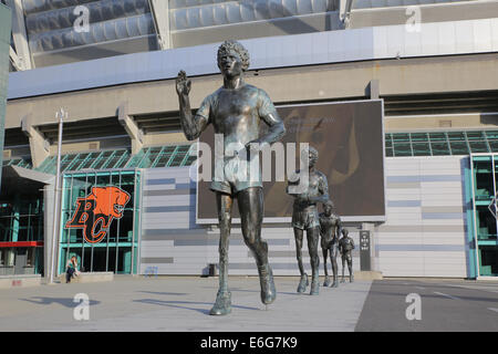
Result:
<svg viewBox="0 0 498 354"><path fill-rule="evenodd" d="M384 277L467 277L468 157L386 158L386 218L375 230Z"/></svg>

